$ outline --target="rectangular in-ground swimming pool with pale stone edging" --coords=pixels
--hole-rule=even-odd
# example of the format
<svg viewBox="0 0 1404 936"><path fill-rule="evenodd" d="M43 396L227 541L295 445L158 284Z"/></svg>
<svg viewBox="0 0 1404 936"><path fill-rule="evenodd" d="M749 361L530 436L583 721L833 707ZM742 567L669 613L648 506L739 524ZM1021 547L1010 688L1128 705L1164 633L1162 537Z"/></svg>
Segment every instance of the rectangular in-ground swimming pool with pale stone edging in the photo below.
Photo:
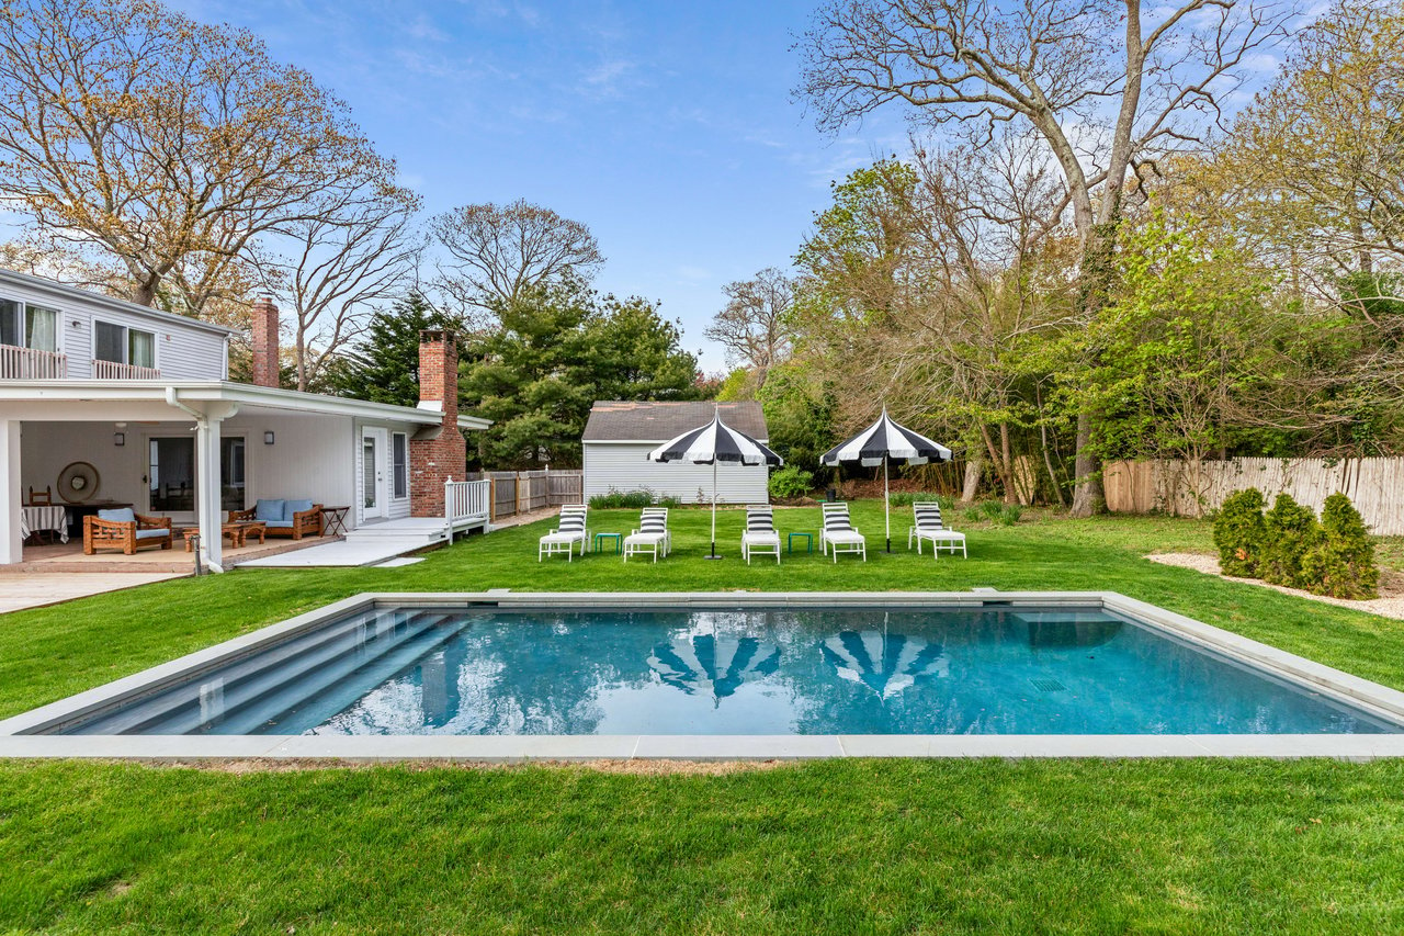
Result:
<svg viewBox="0 0 1404 936"><path fill-rule="evenodd" d="M1398 693L1122 596L368 599L0 734L244 750L289 736L329 749L420 738L423 749L449 738L1404 732Z"/></svg>

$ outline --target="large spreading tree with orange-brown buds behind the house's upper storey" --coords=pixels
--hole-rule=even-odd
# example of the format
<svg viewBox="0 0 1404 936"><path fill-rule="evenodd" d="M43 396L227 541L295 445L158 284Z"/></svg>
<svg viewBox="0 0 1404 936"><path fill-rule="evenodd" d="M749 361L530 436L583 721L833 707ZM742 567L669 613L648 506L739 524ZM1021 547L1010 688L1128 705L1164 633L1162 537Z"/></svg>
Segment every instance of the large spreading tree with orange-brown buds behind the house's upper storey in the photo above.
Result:
<svg viewBox="0 0 1404 936"><path fill-rule="evenodd" d="M0 6L0 186L41 236L121 263L135 302L198 315L258 236L393 173L247 31L152 0Z"/></svg>

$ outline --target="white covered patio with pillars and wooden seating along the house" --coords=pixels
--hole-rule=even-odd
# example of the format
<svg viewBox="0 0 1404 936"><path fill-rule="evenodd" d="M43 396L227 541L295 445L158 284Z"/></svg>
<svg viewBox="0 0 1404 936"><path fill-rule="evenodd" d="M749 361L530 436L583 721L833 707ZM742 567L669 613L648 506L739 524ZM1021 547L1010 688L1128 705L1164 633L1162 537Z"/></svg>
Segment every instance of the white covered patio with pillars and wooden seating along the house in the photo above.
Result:
<svg viewBox="0 0 1404 936"><path fill-rule="evenodd" d="M27 572L194 571L197 554L185 552L183 535L168 550L84 555L76 514L102 506L97 502L197 530L199 562L216 572L329 541L268 537L232 547L222 534L227 513L261 498L341 507L347 530L407 517L410 443L434 438L444 420L428 408L223 381L4 382L0 403L0 568ZM55 489L74 465L90 479L81 493ZM67 544L24 545L21 507L31 489L52 492L67 509Z"/></svg>

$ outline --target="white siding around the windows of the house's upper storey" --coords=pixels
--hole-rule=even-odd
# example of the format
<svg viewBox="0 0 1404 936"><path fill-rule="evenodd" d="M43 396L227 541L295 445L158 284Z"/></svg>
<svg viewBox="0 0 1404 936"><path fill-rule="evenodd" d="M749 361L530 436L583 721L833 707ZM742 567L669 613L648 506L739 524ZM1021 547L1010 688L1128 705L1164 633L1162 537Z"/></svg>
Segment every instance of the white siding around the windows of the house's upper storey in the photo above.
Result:
<svg viewBox="0 0 1404 936"><path fill-rule="evenodd" d="M88 302L67 291L49 292L24 282L0 281L0 298L59 311L59 351L69 358L69 379L93 377L93 323L110 322L156 334L156 367L163 378L222 381L227 377L225 336L177 318Z"/></svg>

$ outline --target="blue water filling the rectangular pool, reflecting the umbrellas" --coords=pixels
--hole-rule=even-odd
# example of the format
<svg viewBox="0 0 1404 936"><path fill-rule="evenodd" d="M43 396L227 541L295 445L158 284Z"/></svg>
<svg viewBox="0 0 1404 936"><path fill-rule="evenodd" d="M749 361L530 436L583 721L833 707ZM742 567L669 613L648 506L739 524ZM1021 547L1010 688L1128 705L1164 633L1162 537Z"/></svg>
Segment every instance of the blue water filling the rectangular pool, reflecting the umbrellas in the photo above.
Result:
<svg viewBox="0 0 1404 936"><path fill-rule="evenodd" d="M1099 609L403 609L333 621L65 734L1397 731Z"/></svg>

